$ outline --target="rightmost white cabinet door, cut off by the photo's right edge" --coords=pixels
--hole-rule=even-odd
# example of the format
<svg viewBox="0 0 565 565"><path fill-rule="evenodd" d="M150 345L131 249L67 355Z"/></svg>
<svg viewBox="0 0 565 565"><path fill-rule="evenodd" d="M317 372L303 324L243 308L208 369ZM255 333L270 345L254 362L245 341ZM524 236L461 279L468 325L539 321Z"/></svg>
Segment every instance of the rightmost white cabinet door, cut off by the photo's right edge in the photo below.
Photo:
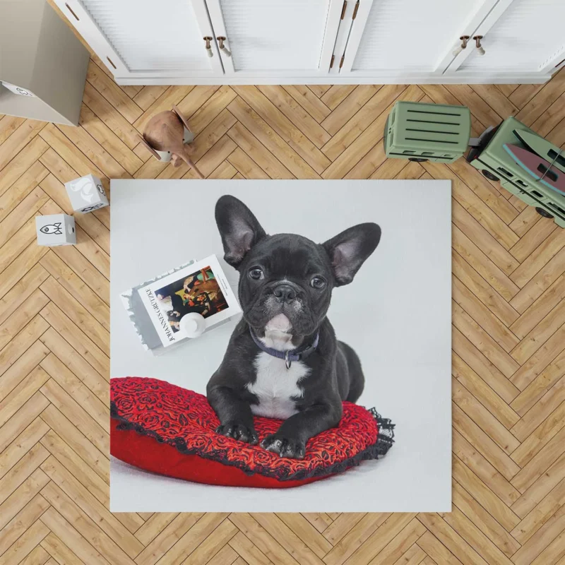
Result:
<svg viewBox="0 0 565 565"><path fill-rule="evenodd" d="M564 0L501 0L496 10L473 33L483 36L484 55L470 44L449 73L547 73L559 66L565 57Z"/></svg>

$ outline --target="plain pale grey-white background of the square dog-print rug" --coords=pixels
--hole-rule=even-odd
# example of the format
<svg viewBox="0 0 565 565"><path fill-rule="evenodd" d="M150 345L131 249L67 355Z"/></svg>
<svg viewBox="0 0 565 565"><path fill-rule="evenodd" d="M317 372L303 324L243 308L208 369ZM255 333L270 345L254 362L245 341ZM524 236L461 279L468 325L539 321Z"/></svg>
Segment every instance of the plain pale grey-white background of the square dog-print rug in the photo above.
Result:
<svg viewBox="0 0 565 565"><path fill-rule="evenodd" d="M328 318L361 358L359 403L396 424L385 458L295 489L190 483L112 458L112 511L451 511L450 181L114 180L111 189L112 376L153 376L206 393L235 322L153 357L119 294L210 254L236 289L214 221L219 196L233 194L271 234L323 242L360 222L381 226L353 283L334 290Z"/></svg>

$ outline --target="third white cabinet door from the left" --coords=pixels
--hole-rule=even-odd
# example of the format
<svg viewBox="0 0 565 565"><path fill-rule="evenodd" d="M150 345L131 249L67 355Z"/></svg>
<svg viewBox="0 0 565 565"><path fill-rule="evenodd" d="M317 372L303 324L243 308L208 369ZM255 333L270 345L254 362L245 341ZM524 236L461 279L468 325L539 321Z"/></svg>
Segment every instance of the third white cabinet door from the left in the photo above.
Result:
<svg viewBox="0 0 565 565"><path fill-rule="evenodd" d="M454 38L496 0L359 0L340 74L417 76L444 71ZM476 24L475 24L476 27Z"/></svg>

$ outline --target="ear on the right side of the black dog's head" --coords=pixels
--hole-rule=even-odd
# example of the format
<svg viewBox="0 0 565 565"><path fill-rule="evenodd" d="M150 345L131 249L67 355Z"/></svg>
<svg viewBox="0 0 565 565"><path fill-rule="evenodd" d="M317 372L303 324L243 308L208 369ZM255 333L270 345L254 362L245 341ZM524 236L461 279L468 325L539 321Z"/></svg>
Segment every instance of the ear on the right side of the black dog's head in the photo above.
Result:
<svg viewBox="0 0 565 565"><path fill-rule="evenodd" d="M335 286L351 283L380 239L381 228L369 222L350 227L323 244L330 256Z"/></svg>

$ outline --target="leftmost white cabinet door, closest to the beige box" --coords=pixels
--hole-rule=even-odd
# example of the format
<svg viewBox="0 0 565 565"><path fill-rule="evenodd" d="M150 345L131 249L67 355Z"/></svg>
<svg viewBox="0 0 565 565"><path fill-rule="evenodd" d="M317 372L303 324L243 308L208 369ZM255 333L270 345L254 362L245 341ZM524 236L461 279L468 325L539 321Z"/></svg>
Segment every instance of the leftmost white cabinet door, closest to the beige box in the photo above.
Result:
<svg viewBox="0 0 565 565"><path fill-rule="evenodd" d="M204 0L56 0L96 54L119 77L222 75ZM215 44L212 42L212 49Z"/></svg>

